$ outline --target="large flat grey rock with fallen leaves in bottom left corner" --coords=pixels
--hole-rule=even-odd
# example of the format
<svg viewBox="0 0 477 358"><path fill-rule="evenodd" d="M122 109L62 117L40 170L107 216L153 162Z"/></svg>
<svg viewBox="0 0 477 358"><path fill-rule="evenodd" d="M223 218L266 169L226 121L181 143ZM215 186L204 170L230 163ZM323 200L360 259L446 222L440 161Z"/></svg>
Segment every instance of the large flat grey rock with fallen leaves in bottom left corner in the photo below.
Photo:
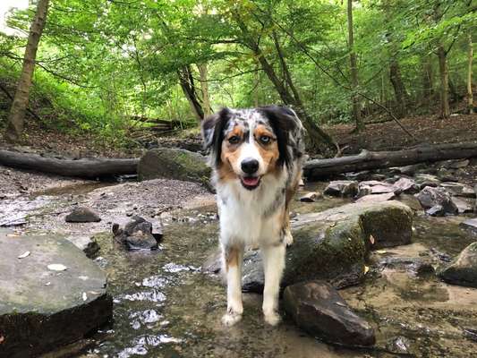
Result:
<svg viewBox="0 0 477 358"><path fill-rule="evenodd" d="M0 251L0 356L36 356L111 319L105 274L69 241L0 234Z"/></svg>

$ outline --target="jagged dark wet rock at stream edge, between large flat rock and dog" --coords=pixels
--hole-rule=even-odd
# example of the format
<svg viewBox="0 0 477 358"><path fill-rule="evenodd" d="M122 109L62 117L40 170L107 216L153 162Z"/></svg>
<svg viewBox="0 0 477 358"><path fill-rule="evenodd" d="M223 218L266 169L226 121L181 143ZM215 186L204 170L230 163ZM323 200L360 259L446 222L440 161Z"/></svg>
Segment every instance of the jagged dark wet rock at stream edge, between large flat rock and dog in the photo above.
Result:
<svg viewBox="0 0 477 358"><path fill-rule="evenodd" d="M128 250L156 250L162 239L159 223L154 225L143 217L134 216L124 228L113 225L115 240L124 243Z"/></svg>

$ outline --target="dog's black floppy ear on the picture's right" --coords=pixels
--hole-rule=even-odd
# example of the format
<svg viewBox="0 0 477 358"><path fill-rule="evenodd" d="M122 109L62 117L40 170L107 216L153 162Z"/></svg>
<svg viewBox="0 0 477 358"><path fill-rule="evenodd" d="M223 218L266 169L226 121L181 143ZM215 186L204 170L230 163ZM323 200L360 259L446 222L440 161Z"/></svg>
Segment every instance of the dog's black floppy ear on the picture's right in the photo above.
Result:
<svg viewBox="0 0 477 358"><path fill-rule="evenodd" d="M304 152L302 122L290 107L267 106L260 107L259 111L268 118L277 135L279 163L290 166L292 160L301 158Z"/></svg>

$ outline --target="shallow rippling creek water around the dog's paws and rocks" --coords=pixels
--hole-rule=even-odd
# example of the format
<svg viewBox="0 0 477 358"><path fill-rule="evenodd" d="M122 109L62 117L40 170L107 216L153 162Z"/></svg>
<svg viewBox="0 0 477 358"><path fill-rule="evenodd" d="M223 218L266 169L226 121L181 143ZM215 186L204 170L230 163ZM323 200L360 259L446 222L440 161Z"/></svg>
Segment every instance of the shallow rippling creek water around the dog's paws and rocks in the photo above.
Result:
<svg viewBox="0 0 477 358"><path fill-rule="evenodd" d="M306 190L322 187L323 183L315 183ZM22 205L24 213L46 203L62 210L62 203L69 200L65 196L88 195L95 188L41 192L42 196L14 205ZM292 209L294 215L301 215L349 201L329 197L314 203L295 200ZM200 270L217 249L217 215L210 202L210 198L194 200L185 206L189 209L163 215L164 238L158 251L125 251L104 228L95 235L101 248L96 260L106 271L108 292L114 299L114 320L92 334L95 343L81 357L475 356L477 290L447 285L432 272L417 275L406 263L423 260L439 268L476 241L476 236L459 226L464 217L416 215L412 244L372 253L362 285L340 290L353 310L376 330L374 348L353 350L308 336L286 316L277 328L268 327L259 294L243 294L240 323L233 328L221 325L225 287L219 277ZM33 220L38 224L46 217ZM59 227L56 223L47 229ZM383 265L389 258L400 263Z"/></svg>

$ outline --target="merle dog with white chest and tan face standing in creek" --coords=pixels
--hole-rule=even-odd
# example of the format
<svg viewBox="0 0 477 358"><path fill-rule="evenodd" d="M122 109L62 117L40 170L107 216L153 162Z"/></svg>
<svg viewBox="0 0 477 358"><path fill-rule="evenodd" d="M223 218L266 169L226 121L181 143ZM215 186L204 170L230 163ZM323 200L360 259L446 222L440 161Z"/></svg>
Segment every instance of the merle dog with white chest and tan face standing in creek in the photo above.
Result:
<svg viewBox="0 0 477 358"><path fill-rule="evenodd" d="M302 122L289 107L223 108L201 125L217 191L220 246L227 282L226 326L242 319L243 251L259 247L262 310L275 326L285 248L293 243L289 203L302 177Z"/></svg>

